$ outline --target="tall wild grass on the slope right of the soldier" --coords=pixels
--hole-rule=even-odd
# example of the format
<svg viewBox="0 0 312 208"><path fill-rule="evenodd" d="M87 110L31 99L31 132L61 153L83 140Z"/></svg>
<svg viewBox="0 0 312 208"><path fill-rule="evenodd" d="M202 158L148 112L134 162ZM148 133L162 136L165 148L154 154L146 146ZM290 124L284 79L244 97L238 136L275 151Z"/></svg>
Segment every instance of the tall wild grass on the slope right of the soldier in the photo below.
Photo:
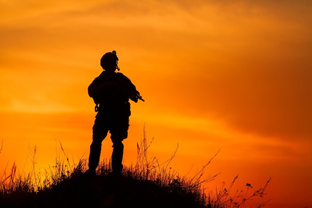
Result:
<svg viewBox="0 0 312 208"><path fill-rule="evenodd" d="M148 149L150 148L154 138L148 142L145 128L143 129L143 138L140 144L137 143L137 163L134 167L126 169L126 174L130 174L137 180L149 180L160 187L165 187L171 192L177 192L181 195L187 195L206 208L245 208L253 202L253 208L262 208L270 201L262 201L265 197L266 188L271 178L266 182L263 188L251 193L253 188L251 184L246 184L246 190L236 190L232 193L232 188L238 179L238 175L234 177L229 188L225 187L225 183L221 184L219 190L208 192L203 185L213 181L221 173L216 175L208 175L204 177L206 169L211 161L217 156L219 151L199 170L194 176L180 176L177 172L169 167L169 163L176 156L178 145L173 151L171 157L160 163L156 157L148 157ZM250 207L250 206L249 206Z"/></svg>

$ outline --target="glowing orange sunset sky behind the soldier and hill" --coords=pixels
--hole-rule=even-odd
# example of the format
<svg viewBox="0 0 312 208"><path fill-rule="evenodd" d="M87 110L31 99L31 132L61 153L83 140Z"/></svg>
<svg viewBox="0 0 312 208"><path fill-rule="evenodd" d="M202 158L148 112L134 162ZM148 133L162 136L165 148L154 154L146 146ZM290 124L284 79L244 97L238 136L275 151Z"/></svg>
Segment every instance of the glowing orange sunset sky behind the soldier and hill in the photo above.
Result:
<svg viewBox="0 0 312 208"><path fill-rule="evenodd" d="M145 103L132 103L125 164L144 124L150 155L182 175L219 149L211 184L260 188L268 208L312 207L312 2L309 0L1 0L0 169L87 158L87 87L116 50ZM103 142L102 159L111 154Z"/></svg>

